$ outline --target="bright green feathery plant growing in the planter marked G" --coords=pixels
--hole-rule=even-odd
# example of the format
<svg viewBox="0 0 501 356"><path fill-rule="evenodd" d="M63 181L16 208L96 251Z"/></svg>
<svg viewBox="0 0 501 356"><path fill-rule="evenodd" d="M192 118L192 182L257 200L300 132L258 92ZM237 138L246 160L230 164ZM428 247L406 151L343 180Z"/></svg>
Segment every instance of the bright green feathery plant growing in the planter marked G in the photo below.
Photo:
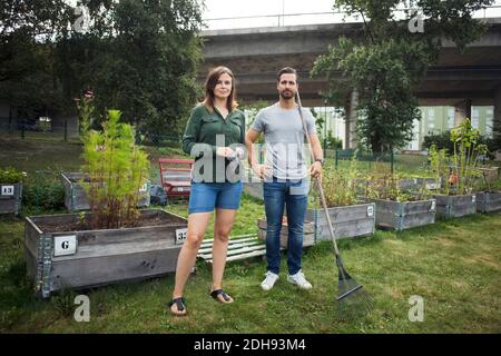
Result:
<svg viewBox="0 0 501 356"><path fill-rule="evenodd" d="M92 228L130 226L139 216L138 190L148 179L149 160L135 144L134 128L119 122L120 116L109 110L102 131L89 129L82 136Z"/></svg>

